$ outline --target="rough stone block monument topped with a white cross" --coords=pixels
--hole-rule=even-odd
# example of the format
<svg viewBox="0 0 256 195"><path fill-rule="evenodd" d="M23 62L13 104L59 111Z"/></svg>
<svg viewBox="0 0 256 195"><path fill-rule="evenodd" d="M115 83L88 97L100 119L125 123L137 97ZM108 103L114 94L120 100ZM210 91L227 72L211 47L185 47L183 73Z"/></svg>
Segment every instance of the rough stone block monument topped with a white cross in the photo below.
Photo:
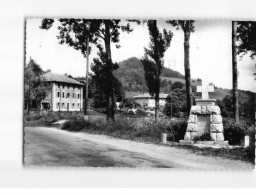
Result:
<svg viewBox="0 0 256 195"><path fill-rule="evenodd" d="M191 107L186 134L180 143L193 144L195 136L209 132L214 144L227 145L223 136L220 108L215 105L215 99L209 99L208 93L214 92L214 87L203 81L202 86L197 87L197 92L202 93L202 99L196 99L196 105Z"/></svg>

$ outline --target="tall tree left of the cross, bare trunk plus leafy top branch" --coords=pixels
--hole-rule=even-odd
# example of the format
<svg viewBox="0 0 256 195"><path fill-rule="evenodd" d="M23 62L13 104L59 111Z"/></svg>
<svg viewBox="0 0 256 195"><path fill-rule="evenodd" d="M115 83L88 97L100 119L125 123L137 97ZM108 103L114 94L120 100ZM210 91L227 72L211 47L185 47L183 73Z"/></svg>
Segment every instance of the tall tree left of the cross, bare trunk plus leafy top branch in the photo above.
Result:
<svg viewBox="0 0 256 195"><path fill-rule="evenodd" d="M189 47L190 47L190 34L195 31L194 20L167 20L168 24L176 27L176 29L182 29L184 32L184 68L185 68L185 80L186 80L186 98L188 115L192 106L192 89L191 89L191 74L190 74L190 62L189 62Z"/></svg>

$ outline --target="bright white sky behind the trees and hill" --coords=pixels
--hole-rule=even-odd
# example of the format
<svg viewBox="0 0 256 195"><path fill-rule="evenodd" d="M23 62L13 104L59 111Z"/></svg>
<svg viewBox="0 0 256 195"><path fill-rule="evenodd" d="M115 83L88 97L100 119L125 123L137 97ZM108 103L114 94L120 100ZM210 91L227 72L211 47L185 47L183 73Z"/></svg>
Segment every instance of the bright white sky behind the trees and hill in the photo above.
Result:
<svg viewBox="0 0 256 195"><path fill-rule="evenodd" d="M44 70L51 69L58 74L85 76L86 59L80 51L67 45L59 44L58 22L49 30L39 28L40 18L27 19L26 26L26 63L30 57ZM171 30L174 34L170 47L165 52L164 66L184 74L184 35L163 20L158 20L158 28ZM131 24L133 32L120 33L121 48L111 45L112 59L120 62L130 57L141 58L144 48L149 45L147 25ZM191 77L213 82L217 87L232 88L232 51L231 21L199 20L195 21L195 32L190 37ZM89 62L97 57L97 49L92 47ZM238 57L238 88L256 92L256 80L253 73L256 59L249 54ZM89 70L90 71L90 70Z"/></svg>

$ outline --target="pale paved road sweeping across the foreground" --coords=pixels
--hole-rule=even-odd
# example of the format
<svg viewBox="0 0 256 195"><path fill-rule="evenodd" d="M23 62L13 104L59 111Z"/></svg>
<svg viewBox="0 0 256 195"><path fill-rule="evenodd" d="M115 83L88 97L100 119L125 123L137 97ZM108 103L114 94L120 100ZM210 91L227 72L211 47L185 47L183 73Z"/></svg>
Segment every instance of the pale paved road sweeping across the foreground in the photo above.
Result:
<svg viewBox="0 0 256 195"><path fill-rule="evenodd" d="M24 163L36 166L252 169L238 160L56 128L26 127Z"/></svg>

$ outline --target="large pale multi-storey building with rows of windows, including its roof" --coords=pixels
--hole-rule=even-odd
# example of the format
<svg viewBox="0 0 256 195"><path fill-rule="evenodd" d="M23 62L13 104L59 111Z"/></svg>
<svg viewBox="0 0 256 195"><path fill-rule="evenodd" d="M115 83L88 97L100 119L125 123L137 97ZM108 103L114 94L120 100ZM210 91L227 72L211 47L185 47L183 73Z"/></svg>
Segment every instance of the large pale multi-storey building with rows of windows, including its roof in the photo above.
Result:
<svg viewBox="0 0 256 195"><path fill-rule="evenodd" d="M50 84L50 92L42 101L41 108L51 111L82 111L83 86L81 82L64 75L48 72L44 81Z"/></svg>

